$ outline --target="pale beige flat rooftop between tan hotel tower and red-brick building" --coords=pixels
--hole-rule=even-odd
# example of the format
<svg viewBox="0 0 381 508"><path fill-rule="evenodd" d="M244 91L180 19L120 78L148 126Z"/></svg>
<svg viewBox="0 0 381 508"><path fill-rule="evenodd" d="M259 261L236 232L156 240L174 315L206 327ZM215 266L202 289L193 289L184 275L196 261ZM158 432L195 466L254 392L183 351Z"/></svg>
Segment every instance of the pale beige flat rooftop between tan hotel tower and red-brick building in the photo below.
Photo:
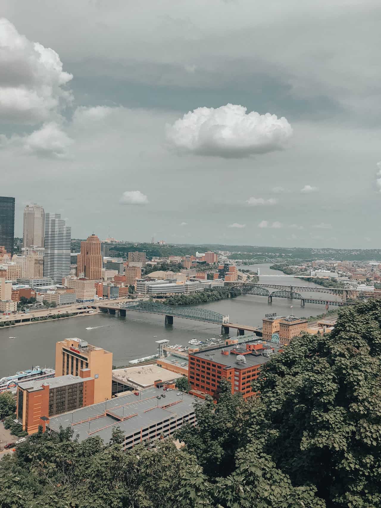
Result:
<svg viewBox="0 0 381 508"><path fill-rule="evenodd" d="M157 365L141 365L140 367L126 367L125 369L115 369L112 371L112 378L115 381L124 383L133 383L140 388L153 386L157 379L170 381L181 377L181 374L163 369Z"/></svg>

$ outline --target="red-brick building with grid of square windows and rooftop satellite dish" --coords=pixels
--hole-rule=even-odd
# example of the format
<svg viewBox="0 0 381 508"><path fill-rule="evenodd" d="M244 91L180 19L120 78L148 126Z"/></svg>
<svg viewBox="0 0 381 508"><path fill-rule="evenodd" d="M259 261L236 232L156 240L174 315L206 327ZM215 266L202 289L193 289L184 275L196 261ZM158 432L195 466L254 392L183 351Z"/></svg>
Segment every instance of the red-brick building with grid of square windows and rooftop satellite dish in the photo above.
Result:
<svg viewBox="0 0 381 508"><path fill-rule="evenodd" d="M253 340L247 340L252 337ZM190 394L205 398L219 395L221 379L227 379L232 385L232 393L241 393L243 398L255 395L251 383L257 379L261 367L273 354L281 352L279 344L246 336L230 339L223 347L189 352Z"/></svg>

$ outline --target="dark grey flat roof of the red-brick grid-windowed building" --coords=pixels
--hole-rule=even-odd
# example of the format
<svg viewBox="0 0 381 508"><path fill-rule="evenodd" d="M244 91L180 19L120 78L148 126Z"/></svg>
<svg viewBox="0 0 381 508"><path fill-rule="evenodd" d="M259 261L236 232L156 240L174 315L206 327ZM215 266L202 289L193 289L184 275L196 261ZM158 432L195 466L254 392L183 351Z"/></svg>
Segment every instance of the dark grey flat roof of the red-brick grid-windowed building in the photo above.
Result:
<svg viewBox="0 0 381 508"><path fill-rule="evenodd" d="M245 353L246 344L263 344L265 350L269 350L270 348L272 348L274 350L274 354L277 353L283 347L282 344L277 344L276 342L257 339L250 340L242 344L232 344L229 346L213 347L212 349L202 350L197 353L192 353L191 355L203 360L219 363L220 365L224 365L225 367L234 367L235 369L246 369L247 367L255 367L256 365L262 365L270 360L270 358L262 355L261 351L259 351L259 353L257 352L256 354L253 354L254 352L250 354L245 354L244 355L246 360L245 363L242 364L236 363L238 355L231 353L231 351L241 350L243 353ZM223 350L229 351L229 355L223 355L222 354Z"/></svg>

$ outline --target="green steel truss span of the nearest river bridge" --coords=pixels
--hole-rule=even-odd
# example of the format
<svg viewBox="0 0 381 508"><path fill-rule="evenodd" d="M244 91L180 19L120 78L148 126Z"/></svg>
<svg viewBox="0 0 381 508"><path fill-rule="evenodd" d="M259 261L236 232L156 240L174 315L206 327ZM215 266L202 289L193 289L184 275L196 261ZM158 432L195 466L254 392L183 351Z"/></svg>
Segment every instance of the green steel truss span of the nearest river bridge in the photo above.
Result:
<svg viewBox="0 0 381 508"><path fill-rule="evenodd" d="M100 305L102 309L102 305ZM215 323L223 325L229 322L229 316L224 316L219 312L213 310L202 309L198 307L170 307L161 303L138 301L120 303L115 306L107 305L105 309L110 311L118 311L120 315L125 315L126 311L133 310L136 312L149 312L150 314L162 314L166 316L165 322L173 324L173 317L183 317L184 319L193 319L196 321L203 321L204 323ZM114 313L113 312L113 313Z"/></svg>

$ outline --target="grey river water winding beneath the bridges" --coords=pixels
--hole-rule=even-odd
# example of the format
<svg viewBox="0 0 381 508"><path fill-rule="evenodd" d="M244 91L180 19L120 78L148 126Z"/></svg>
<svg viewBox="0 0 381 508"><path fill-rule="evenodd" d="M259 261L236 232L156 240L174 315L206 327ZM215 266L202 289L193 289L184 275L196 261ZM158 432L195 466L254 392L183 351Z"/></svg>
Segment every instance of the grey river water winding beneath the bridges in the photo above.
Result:
<svg viewBox="0 0 381 508"><path fill-rule="evenodd" d="M282 272L270 270L269 264L244 266L242 268L257 270L260 268L260 282L310 285L301 279L284 277ZM281 275L266 277L266 274ZM270 290L271 292L271 290ZM303 293L307 297L325 298L324 293ZM336 297L327 295L327 299ZM291 309L291 305L293 308ZM266 313L277 312L280 315L294 313L298 316L321 314L324 305L306 304L300 307L299 300L274 298L267 303L266 297L242 295L218 302L200 305L221 314L229 314L232 323L260 326ZM92 327L92 330L86 330ZM16 370L31 368L33 365L54 368L55 342L68 337L79 337L88 342L102 346L113 353L114 365L127 365L129 360L156 353L155 340L168 339L171 344L187 345L193 338L201 339L218 336L220 327L198 321L174 318L173 326L164 325L164 316L130 312L126 317L97 314L93 316L73 317L59 321L46 321L39 324L0 329L0 378L11 375ZM235 331L232 331L234 334ZM9 337L15 336L14 339Z"/></svg>

